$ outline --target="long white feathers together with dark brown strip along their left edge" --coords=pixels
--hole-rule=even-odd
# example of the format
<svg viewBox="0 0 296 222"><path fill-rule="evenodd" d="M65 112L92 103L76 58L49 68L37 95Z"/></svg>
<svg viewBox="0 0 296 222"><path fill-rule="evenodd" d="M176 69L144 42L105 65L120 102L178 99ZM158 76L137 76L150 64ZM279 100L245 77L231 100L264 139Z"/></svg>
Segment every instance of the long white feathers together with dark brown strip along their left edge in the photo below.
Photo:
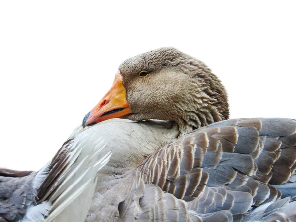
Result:
<svg viewBox="0 0 296 222"><path fill-rule="evenodd" d="M53 158L49 173L38 191L37 203L52 206L46 222L83 221L97 184L97 172L108 162L111 153L99 158L105 147L102 138L88 146L86 134L64 143Z"/></svg>

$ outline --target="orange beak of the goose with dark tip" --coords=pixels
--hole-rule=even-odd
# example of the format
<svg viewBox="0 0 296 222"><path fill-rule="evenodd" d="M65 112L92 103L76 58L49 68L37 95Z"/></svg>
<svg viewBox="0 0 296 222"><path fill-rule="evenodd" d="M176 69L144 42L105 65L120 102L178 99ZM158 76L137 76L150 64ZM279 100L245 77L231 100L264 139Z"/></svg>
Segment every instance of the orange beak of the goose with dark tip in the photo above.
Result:
<svg viewBox="0 0 296 222"><path fill-rule="evenodd" d="M103 99L83 119L83 128L107 119L120 118L132 113L126 100L126 90L123 86L122 75L118 71L111 89Z"/></svg>

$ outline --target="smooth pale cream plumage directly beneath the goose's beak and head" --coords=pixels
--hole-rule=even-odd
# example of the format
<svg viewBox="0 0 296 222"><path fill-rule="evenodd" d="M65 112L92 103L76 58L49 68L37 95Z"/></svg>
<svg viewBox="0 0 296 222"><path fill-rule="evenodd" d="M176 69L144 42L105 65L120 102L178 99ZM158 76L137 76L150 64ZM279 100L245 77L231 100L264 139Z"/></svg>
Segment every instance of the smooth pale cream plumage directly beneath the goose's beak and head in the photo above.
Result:
<svg viewBox="0 0 296 222"><path fill-rule="evenodd" d="M87 134L85 144L93 146L92 141L101 135L106 141L106 147L100 156L112 152L106 166L100 170L99 182L110 181L115 176L134 170L151 153L178 137L178 126L173 122L164 121L130 121L126 119L111 119L95 126L77 127L69 138L81 133ZM142 148L139 148L139 145ZM103 189L103 185L97 186ZM106 187L109 188L109 187Z"/></svg>

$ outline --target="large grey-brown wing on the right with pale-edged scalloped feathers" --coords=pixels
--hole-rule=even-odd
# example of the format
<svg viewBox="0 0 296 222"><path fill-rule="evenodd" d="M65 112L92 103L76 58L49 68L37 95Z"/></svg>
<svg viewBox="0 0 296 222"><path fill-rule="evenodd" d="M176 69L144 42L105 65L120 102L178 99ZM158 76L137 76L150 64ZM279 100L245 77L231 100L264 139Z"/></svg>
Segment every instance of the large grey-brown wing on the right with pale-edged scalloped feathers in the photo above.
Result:
<svg viewBox="0 0 296 222"><path fill-rule="evenodd" d="M295 193L295 145L290 119L200 128L153 153L106 192L91 221L296 221L295 202L280 199L287 183Z"/></svg>

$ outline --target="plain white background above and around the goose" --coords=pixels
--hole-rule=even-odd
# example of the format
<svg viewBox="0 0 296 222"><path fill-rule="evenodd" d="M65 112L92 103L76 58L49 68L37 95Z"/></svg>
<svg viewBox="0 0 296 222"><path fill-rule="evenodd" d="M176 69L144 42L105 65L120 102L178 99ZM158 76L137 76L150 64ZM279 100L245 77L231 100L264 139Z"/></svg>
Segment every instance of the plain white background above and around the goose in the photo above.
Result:
<svg viewBox="0 0 296 222"><path fill-rule="evenodd" d="M293 1L102 2L0 2L0 166L38 170L122 61L164 46L219 76L231 118L296 118Z"/></svg>

